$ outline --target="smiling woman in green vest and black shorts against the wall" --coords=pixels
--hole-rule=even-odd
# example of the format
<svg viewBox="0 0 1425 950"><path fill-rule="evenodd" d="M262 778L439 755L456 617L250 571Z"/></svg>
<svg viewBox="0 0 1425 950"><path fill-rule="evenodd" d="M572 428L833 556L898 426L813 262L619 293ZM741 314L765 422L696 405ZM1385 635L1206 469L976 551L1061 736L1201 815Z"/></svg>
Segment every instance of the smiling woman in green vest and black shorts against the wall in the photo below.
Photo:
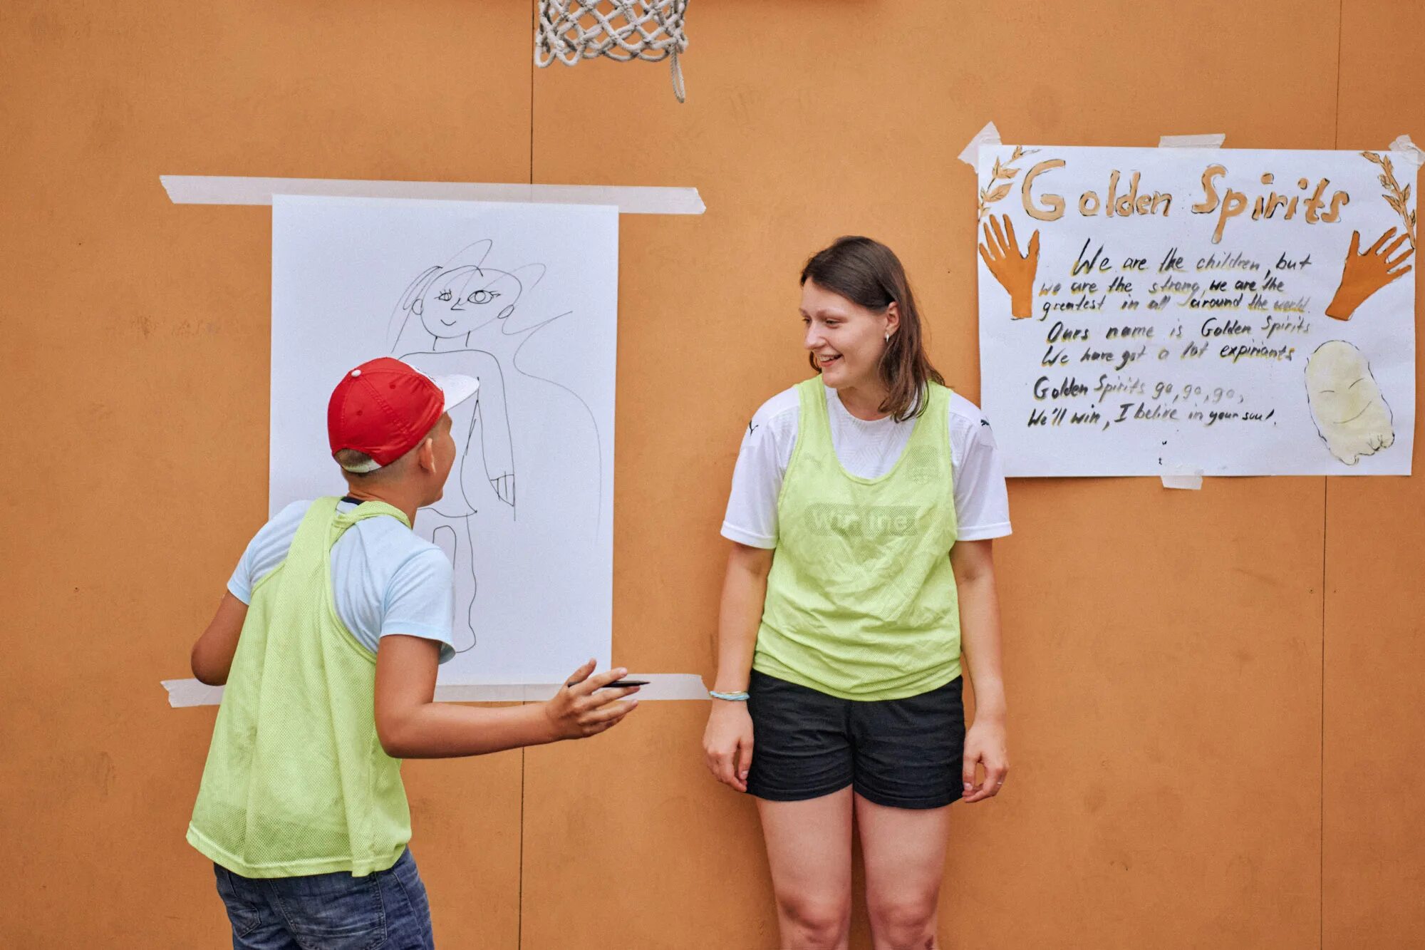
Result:
<svg viewBox="0 0 1425 950"><path fill-rule="evenodd" d="M782 947L846 946L855 816L875 946L922 950L949 805L1009 772L990 558L1005 478L979 409L926 359L888 247L841 238L801 284L819 377L742 438L704 752L757 797Z"/></svg>

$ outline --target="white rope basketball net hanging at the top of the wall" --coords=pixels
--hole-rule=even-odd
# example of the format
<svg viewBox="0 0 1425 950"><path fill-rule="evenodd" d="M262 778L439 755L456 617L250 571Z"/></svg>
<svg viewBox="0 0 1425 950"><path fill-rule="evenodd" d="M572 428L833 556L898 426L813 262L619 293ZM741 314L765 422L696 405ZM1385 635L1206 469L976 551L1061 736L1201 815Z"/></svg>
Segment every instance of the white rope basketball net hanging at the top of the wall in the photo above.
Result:
<svg viewBox="0 0 1425 950"><path fill-rule="evenodd" d="M607 56L620 63L671 60L673 91L684 100L678 54L688 48L688 0L539 0L534 64Z"/></svg>

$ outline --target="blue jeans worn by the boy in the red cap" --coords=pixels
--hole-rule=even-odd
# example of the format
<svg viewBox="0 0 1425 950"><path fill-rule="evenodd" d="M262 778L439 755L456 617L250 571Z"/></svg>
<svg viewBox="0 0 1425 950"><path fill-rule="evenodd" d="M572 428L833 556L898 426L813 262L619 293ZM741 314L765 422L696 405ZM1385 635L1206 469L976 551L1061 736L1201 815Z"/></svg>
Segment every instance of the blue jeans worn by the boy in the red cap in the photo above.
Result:
<svg viewBox="0 0 1425 950"><path fill-rule="evenodd" d="M435 950L426 886L410 849L366 877L256 879L212 869L234 950Z"/></svg>

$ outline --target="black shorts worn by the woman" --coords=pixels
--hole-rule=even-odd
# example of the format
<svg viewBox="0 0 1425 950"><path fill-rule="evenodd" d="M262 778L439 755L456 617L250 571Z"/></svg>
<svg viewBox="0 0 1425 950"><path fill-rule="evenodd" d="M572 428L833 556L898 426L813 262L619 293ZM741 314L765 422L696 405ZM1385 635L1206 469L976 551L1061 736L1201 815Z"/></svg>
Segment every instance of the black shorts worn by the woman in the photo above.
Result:
<svg viewBox="0 0 1425 950"><path fill-rule="evenodd" d="M896 809L938 809L963 795L962 678L906 699L852 700L752 670L747 790L770 802L839 792Z"/></svg>

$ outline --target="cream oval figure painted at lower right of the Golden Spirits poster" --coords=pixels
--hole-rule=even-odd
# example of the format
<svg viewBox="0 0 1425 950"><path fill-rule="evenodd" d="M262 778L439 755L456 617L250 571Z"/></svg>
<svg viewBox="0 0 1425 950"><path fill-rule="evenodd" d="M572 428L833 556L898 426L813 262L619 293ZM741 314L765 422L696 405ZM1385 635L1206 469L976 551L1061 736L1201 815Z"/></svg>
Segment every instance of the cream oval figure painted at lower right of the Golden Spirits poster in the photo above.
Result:
<svg viewBox="0 0 1425 950"><path fill-rule="evenodd" d="M1344 339L1328 339L1307 361L1307 402L1331 455L1347 465L1395 442L1391 407L1371 364Z"/></svg>

